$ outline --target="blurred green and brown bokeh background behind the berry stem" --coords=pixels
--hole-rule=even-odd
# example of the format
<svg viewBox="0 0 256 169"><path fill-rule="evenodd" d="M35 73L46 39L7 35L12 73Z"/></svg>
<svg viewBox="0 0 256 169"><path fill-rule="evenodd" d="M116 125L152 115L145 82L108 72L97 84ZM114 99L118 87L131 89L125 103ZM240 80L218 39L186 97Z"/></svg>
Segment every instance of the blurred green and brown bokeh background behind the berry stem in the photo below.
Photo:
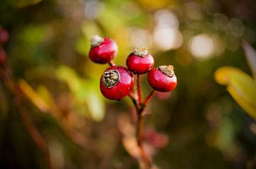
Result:
<svg viewBox="0 0 256 169"><path fill-rule="evenodd" d="M100 94L108 65L90 62L92 35L117 42L116 64L145 46L155 66L175 66L176 90L146 109L159 168L256 168L256 122L214 78L222 66L252 75L241 41L256 46L255 21L250 0L2 0L7 63L26 97L1 81L0 168L50 168L46 154L51 168L139 168L124 141L134 107ZM145 97L146 76L142 87Z"/></svg>

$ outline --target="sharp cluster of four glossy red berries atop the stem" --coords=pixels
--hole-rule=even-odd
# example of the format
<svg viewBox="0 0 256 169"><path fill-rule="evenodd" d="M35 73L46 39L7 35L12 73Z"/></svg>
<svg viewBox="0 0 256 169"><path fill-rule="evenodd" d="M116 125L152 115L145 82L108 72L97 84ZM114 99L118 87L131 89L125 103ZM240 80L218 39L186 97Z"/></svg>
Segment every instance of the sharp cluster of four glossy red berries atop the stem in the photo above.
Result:
<svg viewBox="0 0 256 169"><path fill-rule="evenodd" d="M92 37L89 53L92 62L111 65L100 78L100 91L106 98L120 100L129 95L134 87L133 74L148 73L149 84L156 91L169 92L176 88L177 78L174 74L174 66L164 65L154 68L154 57L145 47L135 49L129 54L128 69L124 66L114 66L112 59L116 56L117 44L114 40L97 35Z"/></svg>

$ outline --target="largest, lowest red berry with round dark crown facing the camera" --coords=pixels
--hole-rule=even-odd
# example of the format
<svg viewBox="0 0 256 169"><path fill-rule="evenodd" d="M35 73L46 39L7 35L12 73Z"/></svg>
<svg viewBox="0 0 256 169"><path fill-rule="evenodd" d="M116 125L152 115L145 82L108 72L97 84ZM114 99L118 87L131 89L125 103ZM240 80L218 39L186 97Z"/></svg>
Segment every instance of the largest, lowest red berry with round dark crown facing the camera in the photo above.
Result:
<svg viewBox="0 0 256 169"><path fill-rule="evenodd" d="M110 100L121 100L134 87L132 73L123 66L111 66L100 78L100 91Z"/></svg>

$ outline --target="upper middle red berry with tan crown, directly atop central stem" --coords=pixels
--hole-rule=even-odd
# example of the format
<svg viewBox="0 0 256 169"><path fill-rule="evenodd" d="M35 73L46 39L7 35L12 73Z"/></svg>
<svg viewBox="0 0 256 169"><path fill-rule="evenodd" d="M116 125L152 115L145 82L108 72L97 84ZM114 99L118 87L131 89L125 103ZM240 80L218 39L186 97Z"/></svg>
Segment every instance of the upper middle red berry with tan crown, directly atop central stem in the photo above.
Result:
<svg viewBox="0 0 256 169"><path fill-rule="evenodd" d="M146 47L135 49L127 57L127 67L134 74L146 74L154 67L154 58L147 52Z"/></svg>

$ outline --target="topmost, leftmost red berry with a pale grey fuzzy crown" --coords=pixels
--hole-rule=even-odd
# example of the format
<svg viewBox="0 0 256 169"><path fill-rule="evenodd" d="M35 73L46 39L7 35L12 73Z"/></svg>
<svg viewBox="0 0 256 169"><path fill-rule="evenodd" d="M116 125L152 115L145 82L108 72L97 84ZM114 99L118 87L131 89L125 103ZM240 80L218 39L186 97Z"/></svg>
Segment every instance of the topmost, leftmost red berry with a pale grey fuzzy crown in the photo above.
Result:
<svg viewBox="0 0 256 169"><path fill-rule="evenodd" d="M117 56L117 44L110 38L93 36L89 57L92 62L106 64Z"/></svg>

